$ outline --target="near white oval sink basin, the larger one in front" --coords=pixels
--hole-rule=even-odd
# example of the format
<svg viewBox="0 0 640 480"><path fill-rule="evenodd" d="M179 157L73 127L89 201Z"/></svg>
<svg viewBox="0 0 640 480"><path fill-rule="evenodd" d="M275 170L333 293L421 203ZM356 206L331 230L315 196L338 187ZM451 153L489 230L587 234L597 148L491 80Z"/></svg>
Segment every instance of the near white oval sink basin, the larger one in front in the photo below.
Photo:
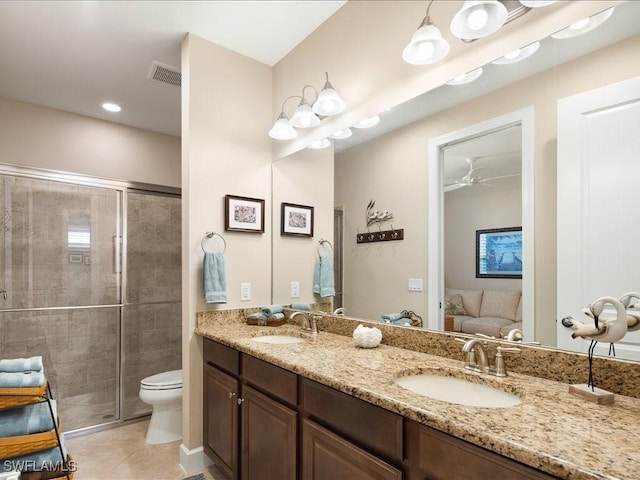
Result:
<svg viewBox="0 0 640 480"><path fill-rule="evenodd" d="M396 379L396 383L419 395L470 407L504 408L522 402L512 393L443 375L408 375Z"/></svg>

